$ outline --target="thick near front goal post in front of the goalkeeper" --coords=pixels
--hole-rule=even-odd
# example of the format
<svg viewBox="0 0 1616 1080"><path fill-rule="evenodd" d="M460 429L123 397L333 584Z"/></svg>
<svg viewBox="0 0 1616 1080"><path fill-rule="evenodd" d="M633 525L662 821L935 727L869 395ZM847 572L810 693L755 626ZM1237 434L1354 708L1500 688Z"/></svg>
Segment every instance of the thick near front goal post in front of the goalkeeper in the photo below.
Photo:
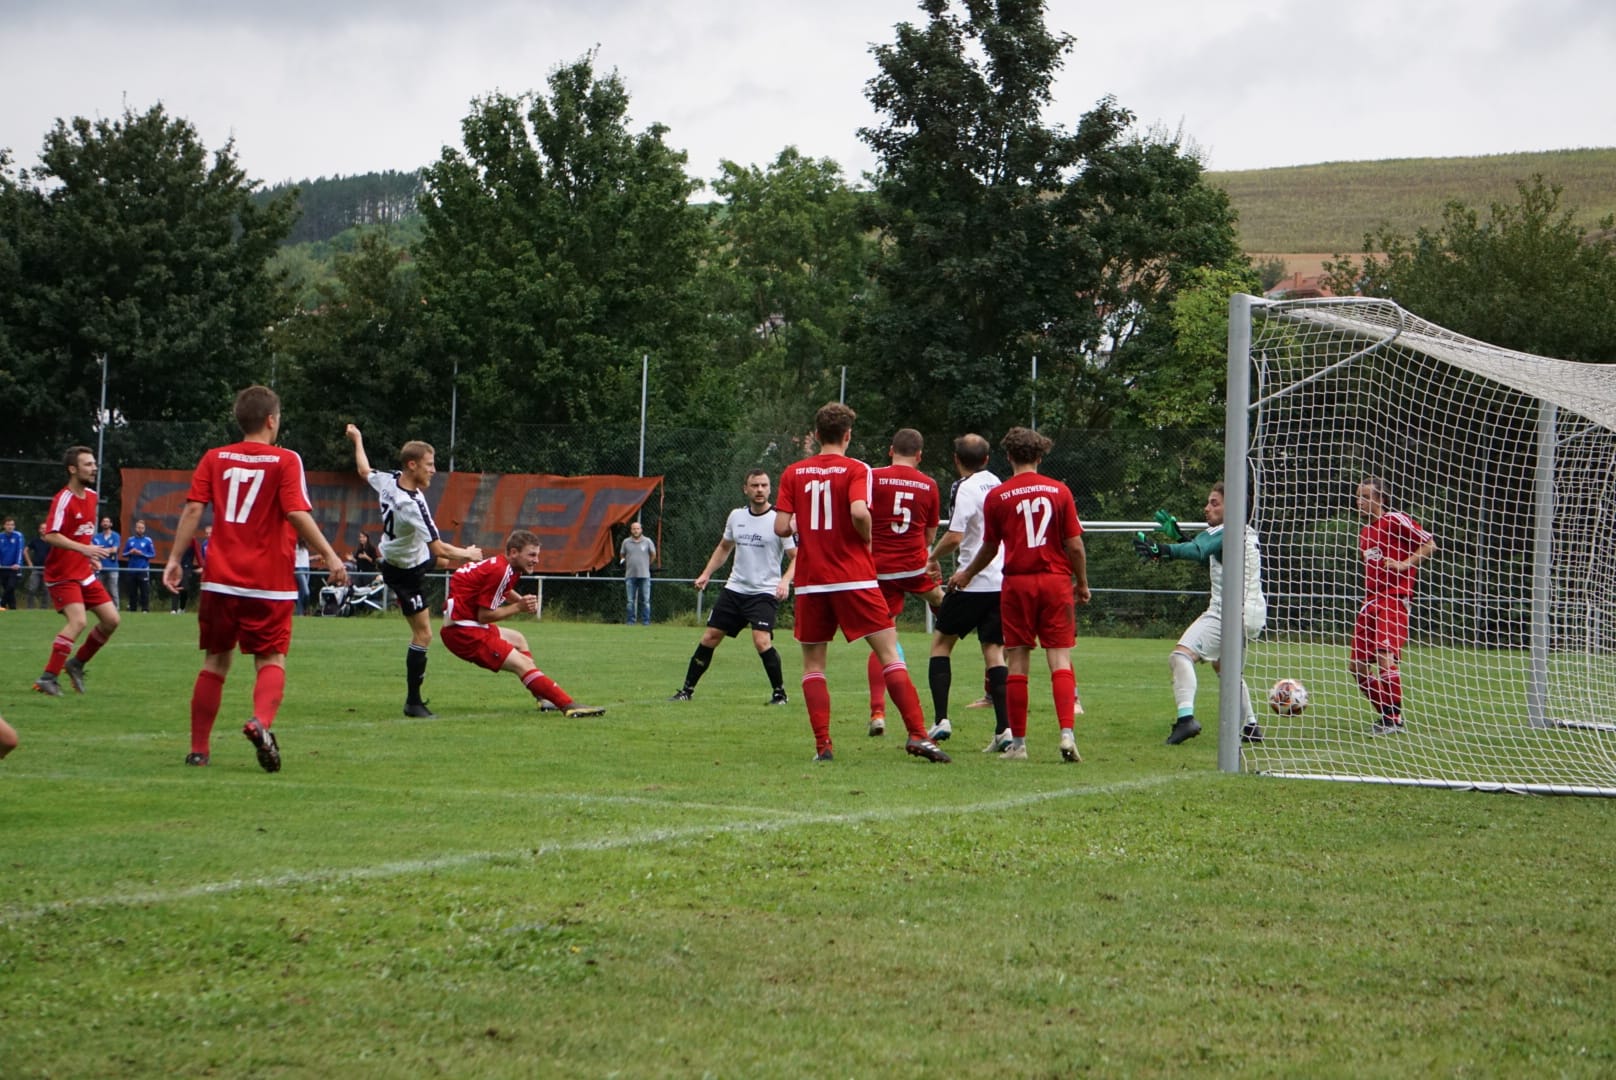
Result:
<svg viewBox="0 0 1616 1080"><path fill-rule="evenodd" d="M1223 412L1223 647L1217 694L1217 766L1239 771L1239 729L1246 707L1246 513L1249 506L1251 306L1254 297L1228 297L1228 401Z"/></svg>

